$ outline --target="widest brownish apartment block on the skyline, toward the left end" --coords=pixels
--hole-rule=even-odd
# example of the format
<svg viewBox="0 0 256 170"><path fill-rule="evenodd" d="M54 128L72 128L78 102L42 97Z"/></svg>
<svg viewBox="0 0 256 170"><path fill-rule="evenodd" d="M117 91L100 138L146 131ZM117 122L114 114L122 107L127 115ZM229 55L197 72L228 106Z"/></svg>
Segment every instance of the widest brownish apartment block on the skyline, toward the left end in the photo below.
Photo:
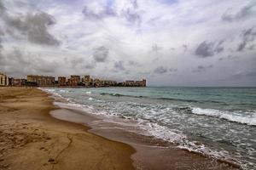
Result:
<svg viewBox="0 0 256 170"><path fill-rule="evenodd" d="M29 75L27 76L27 82L37 83L39 87L55 86L55 77Z"/></svg>

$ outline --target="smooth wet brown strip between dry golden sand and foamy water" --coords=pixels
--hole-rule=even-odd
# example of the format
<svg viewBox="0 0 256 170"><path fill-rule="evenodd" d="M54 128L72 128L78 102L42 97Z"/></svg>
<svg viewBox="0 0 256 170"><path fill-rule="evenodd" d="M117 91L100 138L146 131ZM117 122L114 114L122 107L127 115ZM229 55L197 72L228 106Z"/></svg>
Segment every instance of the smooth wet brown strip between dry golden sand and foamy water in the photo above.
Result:
<svg viewBox="0 0 256 170"><path fill-rule="evenodd" d="M59 101L59 97L54 97ZM61 98L62 99L62 98ZM61 101L60 99L60 101ZM51 111L57 119L76 122L90 127L89 132L107 139L129 144L137 150L131 158L137 169L240 169L232 161L203 156L201 153L170 147L170 143L153 137L127 132L123 127L102 121L101 116L71 108ZM102 121L102 122L101 122Z"/></svg>

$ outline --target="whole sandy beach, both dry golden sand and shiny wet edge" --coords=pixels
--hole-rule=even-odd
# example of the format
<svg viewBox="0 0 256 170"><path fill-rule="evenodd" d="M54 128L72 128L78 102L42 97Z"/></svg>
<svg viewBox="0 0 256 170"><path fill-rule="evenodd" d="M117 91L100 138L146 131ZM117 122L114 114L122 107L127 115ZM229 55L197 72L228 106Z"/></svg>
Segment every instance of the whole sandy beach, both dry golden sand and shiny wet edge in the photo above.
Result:
<svg viewBox="0 0 256 170"><path fill-rule="evenodd" d="M240 168L113 123L94 126L97 116L57 107L49 96L38 88L0 88L0 169Z"/></svg>

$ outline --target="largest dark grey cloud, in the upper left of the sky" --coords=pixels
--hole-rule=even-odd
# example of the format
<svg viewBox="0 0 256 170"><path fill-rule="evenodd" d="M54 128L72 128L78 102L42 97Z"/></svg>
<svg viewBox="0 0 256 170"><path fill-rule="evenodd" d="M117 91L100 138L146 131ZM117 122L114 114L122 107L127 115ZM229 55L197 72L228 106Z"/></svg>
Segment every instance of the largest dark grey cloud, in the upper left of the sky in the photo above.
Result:
<svg viewBox="0 0 256 170"><path fill-rule="evenodd" d="M49 46L60 44L48 31L49 26L55 25L55 19L47 13L38 12L36 14L26 14L26 16L5 14L3 21L9 33L18 31L21 36L27 37L30 42Z"/></svg>

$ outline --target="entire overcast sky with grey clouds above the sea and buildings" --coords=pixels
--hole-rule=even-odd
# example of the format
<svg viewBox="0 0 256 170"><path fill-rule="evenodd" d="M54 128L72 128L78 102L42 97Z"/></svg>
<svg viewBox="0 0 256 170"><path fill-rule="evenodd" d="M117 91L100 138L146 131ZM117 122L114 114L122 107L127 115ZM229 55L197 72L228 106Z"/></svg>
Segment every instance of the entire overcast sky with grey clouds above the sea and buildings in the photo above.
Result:
<svg viewBox="0 0 256 170"><path fill-rule="evenodd" d="M0 72L256 86L256 1L0 0Z"/></svg>

